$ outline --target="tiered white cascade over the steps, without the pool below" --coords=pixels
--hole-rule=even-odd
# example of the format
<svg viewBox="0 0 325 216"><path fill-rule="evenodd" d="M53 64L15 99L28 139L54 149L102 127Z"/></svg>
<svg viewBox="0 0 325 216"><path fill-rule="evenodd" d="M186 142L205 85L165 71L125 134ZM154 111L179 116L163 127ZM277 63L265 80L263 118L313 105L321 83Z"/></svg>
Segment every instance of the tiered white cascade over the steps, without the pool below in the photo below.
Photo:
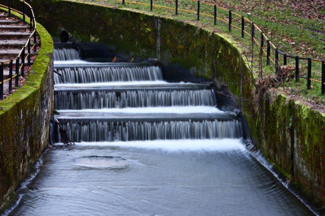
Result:
<svg viewBox="0 0 325 216"><path fill-rule="evenodd" d="M134 84L129 89L123 87L127 85L124 83L136 81L163 81L159 66L149 63L89 62L77 65L60 62L55 68L63 80L54 74L57 86L78 84L78 88L68 85L55 89L54 93L55 109L62 113L57 118L75 142L242 137L241 122L234 115L215 108L215 94L207 85L180 87L175 84L163 89L141 84ZM116 90L110 87L112 82L124 83ZM95 83L103 83L103 86L89 87ZM141 112L141 109L150 107L148 113ZM159 107L163 109L159 110ZM204 113L206 109L203 107L218 114ZM91 109L100 113L91 112Z"/></svg>

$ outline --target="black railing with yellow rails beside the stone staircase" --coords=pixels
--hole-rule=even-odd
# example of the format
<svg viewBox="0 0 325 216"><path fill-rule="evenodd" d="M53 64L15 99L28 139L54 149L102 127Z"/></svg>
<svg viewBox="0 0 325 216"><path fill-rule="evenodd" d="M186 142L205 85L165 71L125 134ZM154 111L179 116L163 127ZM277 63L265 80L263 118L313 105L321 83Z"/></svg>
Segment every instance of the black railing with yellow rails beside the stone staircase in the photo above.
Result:
<svg viewBox="0 0 325 216"><path fill-rule="evenodd" d="M13 82L15 83L15 87L17 88L19 77L20 76L25 77L25 61L27 60L27 65L30 66L31 52L32 50L34 50L34 52L37 52L36 19L35 19L34 11L32 10L32 7L25 1L22 0L18 0L18 1L22 3L21 5L22 12L13 9L11 7L11 0L8 0L8 6L0 4L0 7L8 9L9 17L11 17L12 11L21 14L23 17L22 20L23 23L27 23L27 21L29 22L30 35L28 37L26 44L22 46L19 54L15 58L0 62L0 100L4 99L4 84L6 82L9 82L9 94L12 93ZM29 17L26 15L26 8L29 9ZM31 41L34 42L32 46L31 46ZM27 49L27 53L25 53L26 49ZM9 78L6 80L4 80L5 65L8 65L9 67ZM15 70L15 75L13 75L13 70Z"/></svg>

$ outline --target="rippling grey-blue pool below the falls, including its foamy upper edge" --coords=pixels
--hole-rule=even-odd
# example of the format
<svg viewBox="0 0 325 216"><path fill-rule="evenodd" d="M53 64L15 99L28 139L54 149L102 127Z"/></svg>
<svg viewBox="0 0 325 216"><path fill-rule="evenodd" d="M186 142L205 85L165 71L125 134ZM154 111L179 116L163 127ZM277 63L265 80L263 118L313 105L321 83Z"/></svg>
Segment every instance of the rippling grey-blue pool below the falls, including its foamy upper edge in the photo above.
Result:
<svg viewBox="0 0 325 216"><path fill-rule="evenodd" d="M10 215L310 215L240 139L47 151Z"/></svg>

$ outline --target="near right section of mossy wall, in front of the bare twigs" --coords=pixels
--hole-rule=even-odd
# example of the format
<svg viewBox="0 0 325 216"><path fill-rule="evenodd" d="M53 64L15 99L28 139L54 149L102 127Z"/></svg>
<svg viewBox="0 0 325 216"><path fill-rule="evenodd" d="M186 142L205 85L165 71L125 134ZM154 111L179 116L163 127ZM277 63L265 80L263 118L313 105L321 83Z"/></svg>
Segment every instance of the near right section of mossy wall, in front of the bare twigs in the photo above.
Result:
<svg viewBox="0 0 325 216"><path fill-rule="evenodd" d="M324 210L325 114L277 94L263 101L255 128L264 155Z"/></svg>

